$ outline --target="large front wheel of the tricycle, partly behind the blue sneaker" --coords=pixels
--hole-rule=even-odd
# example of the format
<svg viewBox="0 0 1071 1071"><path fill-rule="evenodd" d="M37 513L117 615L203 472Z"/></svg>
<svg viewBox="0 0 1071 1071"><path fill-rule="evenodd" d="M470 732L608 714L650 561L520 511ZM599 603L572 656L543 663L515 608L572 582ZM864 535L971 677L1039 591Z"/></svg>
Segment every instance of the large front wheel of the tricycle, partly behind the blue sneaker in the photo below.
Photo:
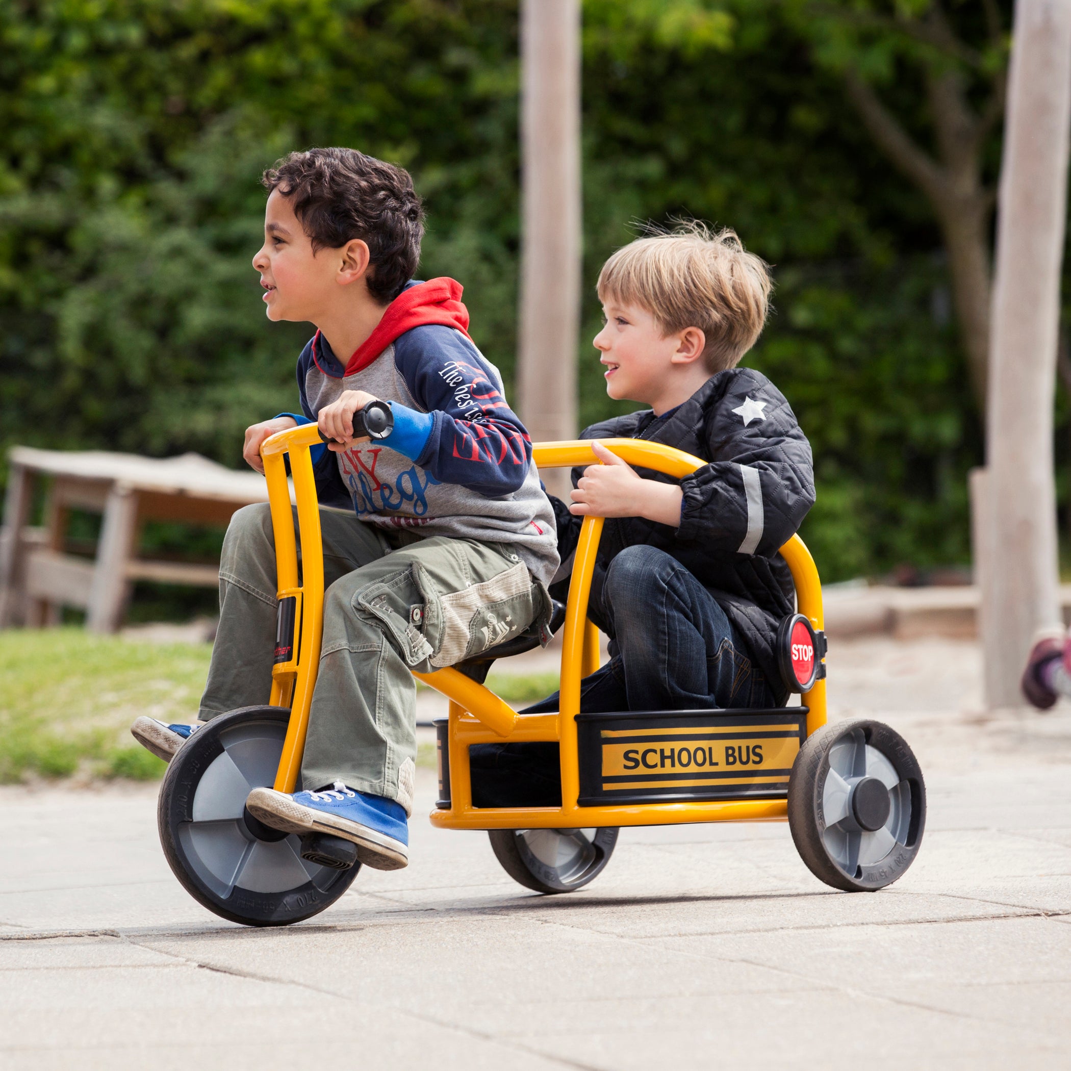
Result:
<svg viewBox="0 0 1071 1071"><path fill-rule="evenodd" d="M210 911L231 922L281 926L333 904L348 870L301 857L301 839L245 810L254 788L275 781L290 711L243 707L199 728L171 759L160 790L160 840L175 876Z"/></svg>

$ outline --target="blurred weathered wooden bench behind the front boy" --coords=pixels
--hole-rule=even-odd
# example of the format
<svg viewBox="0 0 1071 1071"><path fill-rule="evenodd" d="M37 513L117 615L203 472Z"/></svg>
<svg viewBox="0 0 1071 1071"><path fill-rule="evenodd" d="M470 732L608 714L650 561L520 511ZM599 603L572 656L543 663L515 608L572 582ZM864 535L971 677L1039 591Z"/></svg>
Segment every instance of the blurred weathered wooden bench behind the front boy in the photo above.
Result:
<svg viewBox="0 0 1071 1071"><path fill-rule="evenodd" d="M214 587L213 564L138 557L146 521L226 525L268 501L265 479L201 457L165 459L104 451L13 447L0 529L0 628L58 623L61 606L86 610L94 632L115 632L135 580ZM29 527L34 484L50 478L44 525ZM65 553L71 510L102 513L95 559Z"/></svg>

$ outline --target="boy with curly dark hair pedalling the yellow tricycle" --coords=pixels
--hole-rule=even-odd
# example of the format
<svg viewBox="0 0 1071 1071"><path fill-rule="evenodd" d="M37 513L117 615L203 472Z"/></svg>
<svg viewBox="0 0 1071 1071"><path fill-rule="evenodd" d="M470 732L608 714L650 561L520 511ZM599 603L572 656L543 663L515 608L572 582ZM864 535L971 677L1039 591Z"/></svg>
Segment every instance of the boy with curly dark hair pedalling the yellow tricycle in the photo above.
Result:
<svg viewBox="0 0 1071 1071"><path fill-rule="evenodd" d="M262 471L265 439L314 421L332 441L314 449L327 593L303 790L255 788L246 805L272 828L345 838L361 862L393 870L408 861L410 670L529 629L548 638L554 513L528 433L468 334L462 287L411 277L423 212L409 175L352 149L313 149L263 181L253 266L268 318L317 330L298 359L301 411L250 427L244 456ZM355 439L355 412L376 399L393 429ZM269 510L246 507L224 541L202 721L268 702L275 594ZM133 731L166 759L190 730L141 718Z"/></svg>

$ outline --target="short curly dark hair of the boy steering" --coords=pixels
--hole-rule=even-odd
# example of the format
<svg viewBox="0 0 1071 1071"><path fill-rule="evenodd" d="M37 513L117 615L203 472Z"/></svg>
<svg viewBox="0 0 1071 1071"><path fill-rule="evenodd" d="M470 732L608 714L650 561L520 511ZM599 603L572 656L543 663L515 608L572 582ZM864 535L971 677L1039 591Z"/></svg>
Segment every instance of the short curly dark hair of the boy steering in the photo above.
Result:
<svg viewBox="0 0 1071 1071"><path fill-rule="evenodd" d="M393 301L420 262L424 210L409 172L356 149L291 152L260 181L291 199L313 252L360 238L368 245L368 292Z"/></svg>

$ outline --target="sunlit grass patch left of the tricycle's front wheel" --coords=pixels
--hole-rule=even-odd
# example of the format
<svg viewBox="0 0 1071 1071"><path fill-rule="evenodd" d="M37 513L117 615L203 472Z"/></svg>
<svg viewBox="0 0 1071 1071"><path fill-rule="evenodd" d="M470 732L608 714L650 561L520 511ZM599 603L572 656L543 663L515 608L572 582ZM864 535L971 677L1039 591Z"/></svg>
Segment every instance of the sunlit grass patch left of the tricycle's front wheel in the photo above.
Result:
<svg viewBox="0 0 1071 1071"><path fill-rule="evenodd" d="M0 782L27 776L151 780L164 764L131 740L148 714L192 721L211 648L140 644L81 629L0 632Z"/></svg>

